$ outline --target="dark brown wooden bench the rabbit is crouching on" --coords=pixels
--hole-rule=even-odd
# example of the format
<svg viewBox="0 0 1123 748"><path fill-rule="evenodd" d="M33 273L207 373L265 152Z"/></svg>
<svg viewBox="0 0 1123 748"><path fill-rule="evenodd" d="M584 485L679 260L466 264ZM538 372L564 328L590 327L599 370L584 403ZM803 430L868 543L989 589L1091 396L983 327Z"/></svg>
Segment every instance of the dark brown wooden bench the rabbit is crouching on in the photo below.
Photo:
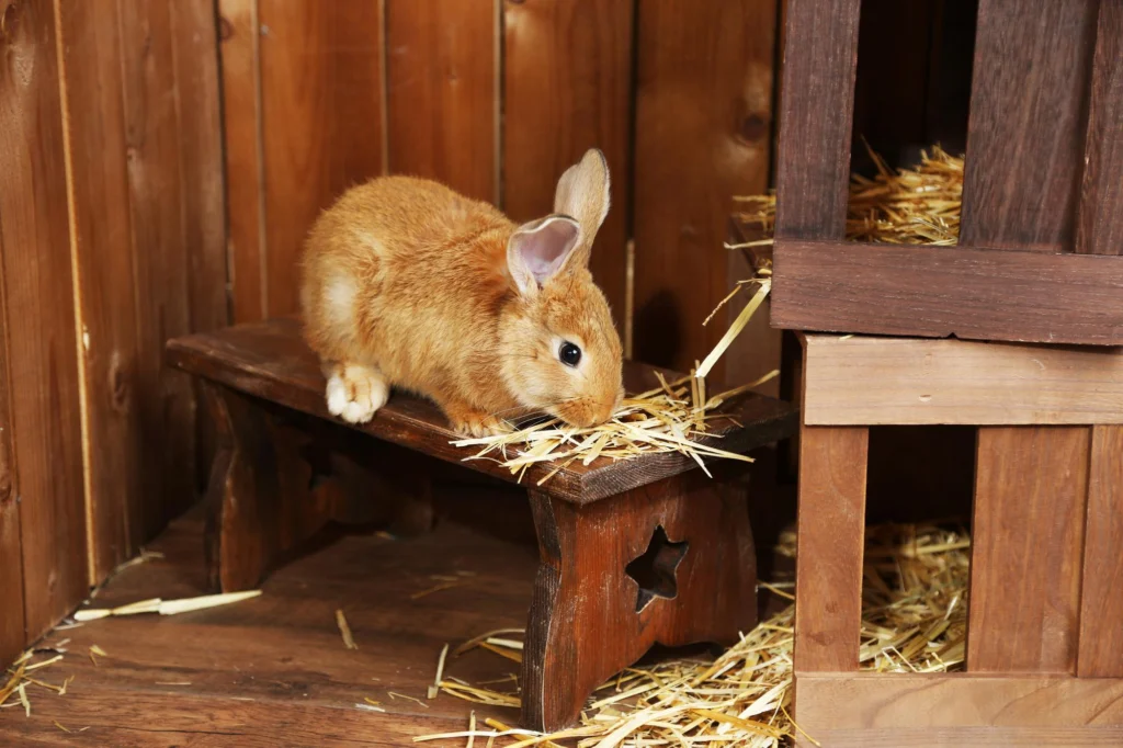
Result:
<svg viewBox="0 0 1123 748"><path fill-rule="evenodd" d="M207 558L222 591L256 586L280 554L354 510L322 490L331 463L318 449L340 444L339 432L515 480L495 462L462 462L474 453L450 444L456 435L428 401L394 393L357 428L329 416L318 361L295 320L177 338L167 349L171 364L202 381L219 432ZM629 392L655 383L650 367L630 363L624 380ZM738 399L734 417L712 437L723 449L745 451L797 428L788 405L755 394ZM377 441L359 440L377 460ZM597 459L540 487L554 467L527 472L541 560L523 651L523 724L570 723L593 688L656 642L729 644L755 623L743 482L719 469L731 467L715 464L710 478L679 454Z"/></svg>

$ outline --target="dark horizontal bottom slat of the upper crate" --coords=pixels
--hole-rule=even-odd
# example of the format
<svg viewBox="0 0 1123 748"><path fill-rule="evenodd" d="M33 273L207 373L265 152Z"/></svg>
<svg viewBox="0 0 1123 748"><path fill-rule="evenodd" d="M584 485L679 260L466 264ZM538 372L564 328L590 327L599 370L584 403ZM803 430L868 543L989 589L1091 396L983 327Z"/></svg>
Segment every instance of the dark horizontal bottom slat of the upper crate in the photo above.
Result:
<svg viewBox="0 0 1123 748"><path fill-rule="evenodd" d="M1123 345L1115 257L777 241L775 327Z"/></svg>

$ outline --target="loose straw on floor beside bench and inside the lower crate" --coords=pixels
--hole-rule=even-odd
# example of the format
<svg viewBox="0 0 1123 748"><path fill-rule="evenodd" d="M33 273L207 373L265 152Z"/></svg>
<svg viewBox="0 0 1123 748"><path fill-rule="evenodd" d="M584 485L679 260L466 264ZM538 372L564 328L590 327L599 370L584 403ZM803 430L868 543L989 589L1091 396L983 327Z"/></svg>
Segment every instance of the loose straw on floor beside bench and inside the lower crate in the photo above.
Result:
<svg viewBox="0 0 1123 748"><path fill-rule="evenodd" d="M967 623L970 541L961 529L938 526L869 528L862 589L864 668L882 672L947 672L961 667ZM777 550L795 554L794 533ZM789 599L789 581L761 584ZM795 609L759 623L716 659L673 660L632 667L603 684L590 700L582 724L555 735L512 730L495 720L490 730L414 738L490 739L494 745L545 746L564 740L579 748L615 746L786 746L800 731L789 713ZM512 631L492 632L457 653L484 647L519 659ZM448 671L455 671L455 657ZM469 702L517 708L519 693L471 685L445 675L444 693ZM474 724L474 720L473 720ZM501 737L501 736L506 736ZM814 739L814 736L809 736Z"/></svg>

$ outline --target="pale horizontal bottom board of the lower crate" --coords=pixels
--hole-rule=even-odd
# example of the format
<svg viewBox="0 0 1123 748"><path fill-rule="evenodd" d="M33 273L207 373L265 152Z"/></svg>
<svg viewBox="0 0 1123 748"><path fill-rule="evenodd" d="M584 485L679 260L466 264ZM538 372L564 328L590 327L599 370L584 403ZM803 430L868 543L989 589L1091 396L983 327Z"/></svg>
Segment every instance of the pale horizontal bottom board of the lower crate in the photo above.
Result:
<svg viewBox="0 0 1123 748"><path fill-rule="evenodd" d="M796 676L795 692L800 727L832 748L1093 748L1123 740L1117 678L809 674Z"/></svg>

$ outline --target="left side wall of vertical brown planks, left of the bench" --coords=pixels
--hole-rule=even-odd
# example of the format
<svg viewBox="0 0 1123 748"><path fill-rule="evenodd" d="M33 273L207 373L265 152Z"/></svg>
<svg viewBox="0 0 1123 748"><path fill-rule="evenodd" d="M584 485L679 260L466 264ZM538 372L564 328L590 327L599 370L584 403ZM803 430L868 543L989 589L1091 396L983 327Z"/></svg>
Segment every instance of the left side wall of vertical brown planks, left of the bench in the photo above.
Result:
<svg viewBox="0 0 1123 748"><path fill-rule="evenodd" d="M193 502L163 346L228 312L211 0L7 3L0 57L3 662Z"/></svg>

